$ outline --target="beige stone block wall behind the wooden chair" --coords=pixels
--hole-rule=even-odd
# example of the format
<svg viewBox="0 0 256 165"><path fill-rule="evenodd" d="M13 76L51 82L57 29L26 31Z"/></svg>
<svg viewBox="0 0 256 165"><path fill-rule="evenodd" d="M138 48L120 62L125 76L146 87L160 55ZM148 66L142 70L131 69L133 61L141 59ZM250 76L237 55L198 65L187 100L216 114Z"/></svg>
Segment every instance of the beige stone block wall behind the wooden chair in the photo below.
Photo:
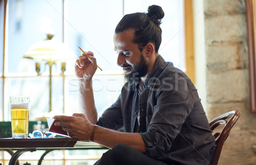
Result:
<svg viewBox="0 0 256 165"><path fill-rule="evenodd" d="M245 0L204 0L207 116L239 110L219 165L256 165L256 114L250 113Z"/></svg>

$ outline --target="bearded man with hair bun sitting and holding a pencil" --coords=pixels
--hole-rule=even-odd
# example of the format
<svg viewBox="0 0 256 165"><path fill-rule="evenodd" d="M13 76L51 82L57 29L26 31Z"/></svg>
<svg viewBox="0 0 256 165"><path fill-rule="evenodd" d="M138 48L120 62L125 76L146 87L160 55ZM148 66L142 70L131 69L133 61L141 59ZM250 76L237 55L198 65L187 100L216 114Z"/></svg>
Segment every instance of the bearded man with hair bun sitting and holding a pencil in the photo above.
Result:
<svg viewBox="0 0 256 165"><path fill-rule="evenodd" d="M116 26L117 64L128 82L99 120L91 85L96 59L88 52L88 58L83 54L76 61L84 114L55 116L56 126L111 148L96 165L205 165L212 159L215 139L197 90L158 54L163 16L153 5L148 13L125 15ZM125 133L118 131L122 127Z"/></svg>

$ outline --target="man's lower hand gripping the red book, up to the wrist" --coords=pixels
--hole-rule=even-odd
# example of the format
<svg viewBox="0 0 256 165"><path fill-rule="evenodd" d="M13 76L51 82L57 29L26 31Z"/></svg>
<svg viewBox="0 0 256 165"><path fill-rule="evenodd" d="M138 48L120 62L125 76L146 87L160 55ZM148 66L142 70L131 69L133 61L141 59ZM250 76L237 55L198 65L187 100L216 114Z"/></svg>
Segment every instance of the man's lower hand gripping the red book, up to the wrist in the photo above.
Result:
<svg viewBox="0 0 256 165"><path fill-rule="evenodd" d="M55 126L61 126L70 137L78 140L89 141L93 130L93 124L82 113L74 113L73 116L54 116Z"/></svg>

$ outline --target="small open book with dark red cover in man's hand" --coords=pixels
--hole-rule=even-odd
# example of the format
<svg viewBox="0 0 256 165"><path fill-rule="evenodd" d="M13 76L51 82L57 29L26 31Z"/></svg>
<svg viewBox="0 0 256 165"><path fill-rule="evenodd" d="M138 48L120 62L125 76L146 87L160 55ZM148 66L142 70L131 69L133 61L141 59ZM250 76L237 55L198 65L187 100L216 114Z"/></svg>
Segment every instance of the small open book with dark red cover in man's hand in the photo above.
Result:
<svg viewBox="0 0 256 165"><path fill-rule="evenodd" d="M66 131L62 130L62 127L55 126L54 125L55 122L56 122L55 119L47 118L47 124L48 124L49 128L44 129L43 132L45 132L45 133L55 133L57 135L70 137L70 136L68 136Z"/></svg>

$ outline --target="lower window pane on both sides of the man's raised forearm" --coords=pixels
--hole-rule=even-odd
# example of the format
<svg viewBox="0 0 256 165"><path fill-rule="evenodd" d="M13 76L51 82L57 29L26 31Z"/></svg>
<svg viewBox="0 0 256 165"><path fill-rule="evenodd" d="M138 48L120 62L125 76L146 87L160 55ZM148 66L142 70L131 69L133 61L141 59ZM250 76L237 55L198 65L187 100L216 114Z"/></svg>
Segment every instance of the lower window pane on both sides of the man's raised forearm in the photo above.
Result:
<svg viewBox="0 0 256 165"><path fill-rule="evenodd" d="M83 113L79 111L79 86L76 77L67 78L65 89L65 114ZM123 75L94 75L93 95L98 115L113 104L119 96L124 84Z"/></svg>

